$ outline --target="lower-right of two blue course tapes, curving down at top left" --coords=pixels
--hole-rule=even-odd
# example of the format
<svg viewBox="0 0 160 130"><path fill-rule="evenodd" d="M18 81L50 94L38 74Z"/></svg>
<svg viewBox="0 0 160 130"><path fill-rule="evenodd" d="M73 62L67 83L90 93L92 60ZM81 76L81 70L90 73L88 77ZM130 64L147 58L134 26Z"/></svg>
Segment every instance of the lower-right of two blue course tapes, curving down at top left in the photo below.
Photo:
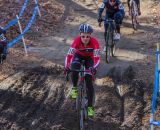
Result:
<svg viewBox="0 0 160 130"><path fill-rule="evenodd" d="M28 32L28 30L30 29L35 17L36 17L36 14L37 14L37 10L38 10L38 2L36 1L36 4L35 4L35 7L33 9L33 15L32 17L30 18L27 26L25 27L25 29L23 30L23 33L20 34L18 37L16 37L15 39L13 39L11 42L8 43L8 48L11 48L16 42L18 42L20 39L22 39L23 35Z"/></svg>

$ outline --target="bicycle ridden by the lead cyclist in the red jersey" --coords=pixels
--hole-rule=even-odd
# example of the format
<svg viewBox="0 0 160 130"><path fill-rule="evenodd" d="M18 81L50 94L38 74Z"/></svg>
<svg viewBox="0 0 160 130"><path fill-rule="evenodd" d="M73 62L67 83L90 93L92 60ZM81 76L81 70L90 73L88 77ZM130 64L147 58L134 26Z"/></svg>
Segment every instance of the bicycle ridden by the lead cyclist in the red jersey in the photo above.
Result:
<svg viewBox="0 0 160 130"><path fill-rule="evenodd" d="M77 117L78 117L78 126L79 130L84 130L85 120L88 119L87 116L87 107L88 107L88 99L87 99L87 93L86 93L86 86L85 86L85 73L91 72L90 70L85 70L84 61L82 61L82 66L80 70L72 69L70 72L79 72L79 82L78 82L78 96L76 98L76 111L77 111ZM70 72L67 72L67 80L68 74Z"/></svg>

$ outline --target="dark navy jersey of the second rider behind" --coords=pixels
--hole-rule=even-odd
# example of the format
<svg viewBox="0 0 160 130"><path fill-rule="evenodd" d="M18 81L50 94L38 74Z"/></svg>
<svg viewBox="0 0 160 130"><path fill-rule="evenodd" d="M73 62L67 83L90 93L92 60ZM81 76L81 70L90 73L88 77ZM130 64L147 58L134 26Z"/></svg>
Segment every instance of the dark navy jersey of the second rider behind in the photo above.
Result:
<svg viewBox="0 0 160 130"><path fill-rule="evenodd" d="M116 12L122 12L124 14L124 6L120 0L116 0L116 3L111 6L108 0L103 0L101 7L98 10L98 16L101 17L103 10L106 8L106 14L115 14Z"/></svg>

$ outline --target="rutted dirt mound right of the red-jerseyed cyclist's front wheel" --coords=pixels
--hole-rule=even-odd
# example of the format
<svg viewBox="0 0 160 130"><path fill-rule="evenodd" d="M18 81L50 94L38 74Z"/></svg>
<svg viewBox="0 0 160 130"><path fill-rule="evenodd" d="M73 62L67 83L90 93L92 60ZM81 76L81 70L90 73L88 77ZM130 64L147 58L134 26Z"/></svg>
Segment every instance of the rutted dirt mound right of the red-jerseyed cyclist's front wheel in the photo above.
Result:
<svg viewBox="0 0 160 130"><path fill-rule="evenodd" d="M117 125L115 129L139 129L142 125L145 103L143 94L146 85L142 80L136 80L134 75L132 66L125 70L113 67L108 77L97 81L99 118L115 123Z"/></svg>

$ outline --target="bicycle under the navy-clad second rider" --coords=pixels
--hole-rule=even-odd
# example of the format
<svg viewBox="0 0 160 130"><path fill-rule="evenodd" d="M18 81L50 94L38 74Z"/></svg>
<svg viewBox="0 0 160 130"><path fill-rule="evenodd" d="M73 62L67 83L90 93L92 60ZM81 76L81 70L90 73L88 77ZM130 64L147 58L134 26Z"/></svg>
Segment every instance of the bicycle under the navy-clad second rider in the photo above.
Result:
<svg viewBox="0 0 160 130"><path fill-rule="evenodd" d="M116 34L116 26L115 26L115 21L113 19L102 19L104 22L108 22L108 28L107 32L105 33L106 35L104 36L106 39L105 43L105 60L106 63L109 63L110 57L115 56L115 51L116 51L116 42L117 40L114 40L114 35ZM99 23L99 26L101 26L101 23Z"/></svg>

